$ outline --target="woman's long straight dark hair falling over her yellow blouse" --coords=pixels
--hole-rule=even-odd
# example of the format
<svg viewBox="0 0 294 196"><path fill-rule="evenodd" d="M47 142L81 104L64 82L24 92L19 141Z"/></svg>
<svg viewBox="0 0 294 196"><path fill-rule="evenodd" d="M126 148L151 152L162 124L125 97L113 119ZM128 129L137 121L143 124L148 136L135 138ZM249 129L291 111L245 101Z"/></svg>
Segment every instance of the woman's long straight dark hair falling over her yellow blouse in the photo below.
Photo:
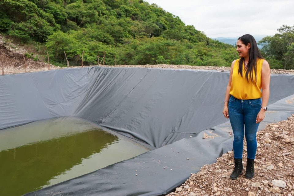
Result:
<svg viewBox="0 0 294 196"><path fill-rule="evenodd" d="M241 42L243 44L245 44L245 46L247 46L248 43L251 44L251 47L249 49L249 61L248 61L248 64L247 64L245 76L246 76L247 81L249 82L249 77L248 77L248 75L249 75L250 80L253 83L254 82L253 70L254 70L254 73L255 73L255 81L257 80L257 73L256 73L257 59L258 58L263 59L263 57L260 54L260 52L258 50L258 47L257 47L257 43L256 43L256 41L255 41L255 39L254 39L254 37L252 35L249 35L249 34L243 35L243 36L239 37L238 40L241 40ZM243 75L243 70L242 70L243 62L244 62L244 58L241 57L241 59L239 61L239 69L238 69L238 73L240 74L240 76Z"/></svg>

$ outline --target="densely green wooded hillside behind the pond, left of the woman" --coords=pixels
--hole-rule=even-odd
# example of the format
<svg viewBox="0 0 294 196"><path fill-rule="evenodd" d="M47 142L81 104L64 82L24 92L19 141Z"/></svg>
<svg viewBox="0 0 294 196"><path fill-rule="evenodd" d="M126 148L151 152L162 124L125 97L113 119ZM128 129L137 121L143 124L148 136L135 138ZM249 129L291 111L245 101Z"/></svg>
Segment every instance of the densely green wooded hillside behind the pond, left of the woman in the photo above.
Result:
<svg viewBox="0 0 294 196"><path fill-rule="evenodd" d="M84 65L97 65L98 52L107 65L230 66L238 58L234 47L142 0L2 0L0 14L0 32L48 51L53 64L63 51L70 64L85 51Z"/></svg>

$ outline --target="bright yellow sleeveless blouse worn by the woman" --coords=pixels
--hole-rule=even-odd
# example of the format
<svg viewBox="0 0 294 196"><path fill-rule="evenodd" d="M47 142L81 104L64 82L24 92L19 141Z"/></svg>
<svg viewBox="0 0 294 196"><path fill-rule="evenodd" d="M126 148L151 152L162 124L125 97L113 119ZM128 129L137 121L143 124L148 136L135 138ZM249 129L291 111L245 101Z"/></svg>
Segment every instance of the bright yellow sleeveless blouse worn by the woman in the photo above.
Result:
<svg viewBox="0 0 294 196"><path fill-rule="evenodd" d="M238 74L239 61L240 59L237 59L233 67L230 94L237 99L243 99L243 100L261 98L262 97L261 68L262 68L262 63L264 59L257 60L257 64L256 64L257 80L255 80L255 72L253 70L254 83L252 83L250 78L249 78L249 83L246 79L246 76L245 76L246 71L244 69L244 62L242 65L243 76L241 77L240 74Z"/></svg>

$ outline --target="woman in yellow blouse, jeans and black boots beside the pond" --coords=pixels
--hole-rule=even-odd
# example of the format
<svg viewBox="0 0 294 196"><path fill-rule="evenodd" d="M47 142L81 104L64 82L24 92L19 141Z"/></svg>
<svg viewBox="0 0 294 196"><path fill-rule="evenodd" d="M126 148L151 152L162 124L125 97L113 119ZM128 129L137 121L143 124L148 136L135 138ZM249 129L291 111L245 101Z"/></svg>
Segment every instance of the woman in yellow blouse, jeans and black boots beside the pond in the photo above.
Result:
<svg viewBox="0 0 294 196"><path fill-rule="evenodd" d="M234 133L235 168L231 179L242 174L242 153L245 126L247 142L247 179L254 176L254 158L257 149L256 132L264 119L269 100L269 64L258 51L252 35L243 35L237 40L239 59L232 62L226 90L223 114L230 118ZM262 91L261 91L262 89Z"/></svg>

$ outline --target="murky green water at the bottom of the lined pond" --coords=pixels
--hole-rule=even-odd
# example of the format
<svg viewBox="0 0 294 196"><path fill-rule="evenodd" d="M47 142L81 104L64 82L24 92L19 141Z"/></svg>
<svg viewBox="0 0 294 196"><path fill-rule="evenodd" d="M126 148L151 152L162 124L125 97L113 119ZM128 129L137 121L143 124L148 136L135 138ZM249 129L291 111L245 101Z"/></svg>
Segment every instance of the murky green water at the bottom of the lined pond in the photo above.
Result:
<svg viewBox="0 0 294 196"><path fill-rule="evenodd" d="M0 130L0 195L22 195L149 150L75 117Z"/></svg>

